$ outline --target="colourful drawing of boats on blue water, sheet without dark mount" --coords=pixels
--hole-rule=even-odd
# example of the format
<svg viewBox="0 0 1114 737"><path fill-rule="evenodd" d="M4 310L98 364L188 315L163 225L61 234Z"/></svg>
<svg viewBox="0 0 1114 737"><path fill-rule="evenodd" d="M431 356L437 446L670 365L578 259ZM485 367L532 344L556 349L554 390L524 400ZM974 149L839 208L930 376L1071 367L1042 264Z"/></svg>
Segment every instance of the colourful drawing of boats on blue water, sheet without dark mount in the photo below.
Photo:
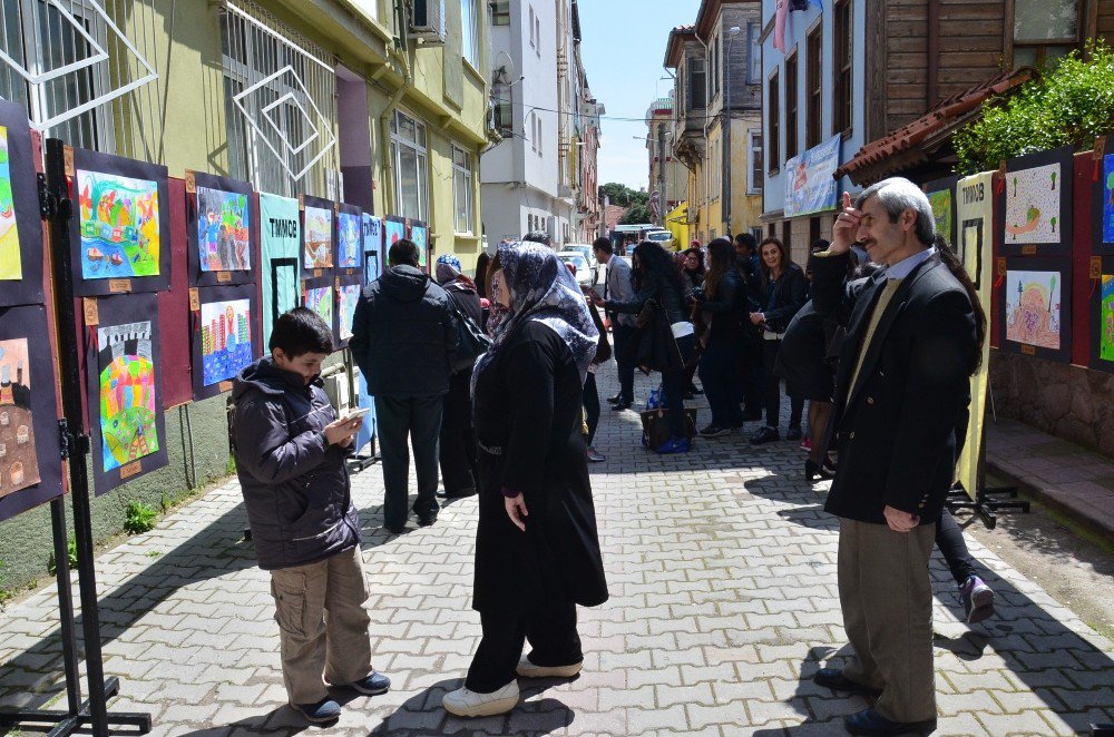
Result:
<svg viewBox="0 0 1114 737"><path fill-rule="evenodd" d="M87 279L157 276L158 185L78 169L77 191L81 275Z"/></svg>

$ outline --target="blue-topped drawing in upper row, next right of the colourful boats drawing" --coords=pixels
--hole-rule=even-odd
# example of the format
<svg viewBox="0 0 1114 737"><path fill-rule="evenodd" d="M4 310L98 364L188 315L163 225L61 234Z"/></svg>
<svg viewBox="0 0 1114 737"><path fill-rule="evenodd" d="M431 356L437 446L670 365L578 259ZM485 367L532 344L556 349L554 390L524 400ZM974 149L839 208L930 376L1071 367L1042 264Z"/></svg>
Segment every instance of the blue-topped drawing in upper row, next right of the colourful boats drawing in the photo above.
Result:
<svg viewBox="0 0 1114 737"><path fill-rule="evenodd" d="M203 272L252 267L250 207L247 195L197 187L197 263Z"/></svg>

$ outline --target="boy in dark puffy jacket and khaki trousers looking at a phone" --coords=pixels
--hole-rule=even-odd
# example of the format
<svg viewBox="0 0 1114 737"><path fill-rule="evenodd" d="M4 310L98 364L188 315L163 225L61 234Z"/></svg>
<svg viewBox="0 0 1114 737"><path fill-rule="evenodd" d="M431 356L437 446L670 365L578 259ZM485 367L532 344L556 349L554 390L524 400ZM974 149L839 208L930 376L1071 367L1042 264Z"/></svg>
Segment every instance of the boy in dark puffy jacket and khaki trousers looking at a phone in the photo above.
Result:
<svg viewBox="0 0 1114 737"><path fill-rule="evenodd" d="M233 454L260 568L271 571L290 705L326 723L341 708L325 681L365 695L391 685L371 667L360 519L345 465L363 420L338 419L329 404L320 374L332 330L316 313L295 307L278 317L268 347L233 384Z"/></svg>

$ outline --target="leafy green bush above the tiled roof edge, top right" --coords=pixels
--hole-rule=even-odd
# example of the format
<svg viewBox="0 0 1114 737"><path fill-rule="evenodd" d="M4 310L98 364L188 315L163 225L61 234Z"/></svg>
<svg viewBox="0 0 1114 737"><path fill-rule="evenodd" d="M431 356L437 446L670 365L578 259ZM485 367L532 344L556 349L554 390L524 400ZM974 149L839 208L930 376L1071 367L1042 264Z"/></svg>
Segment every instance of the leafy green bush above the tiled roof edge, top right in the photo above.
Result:
<svg viewBox="0 0 1114 737"><path fill-rule="evenodd" d="M988 100L983 117L952 137L956 174L997 169L1003 159L1071 145L1094 147L1114 129L1114 51L1102 39L1007 98Z"/></svg>

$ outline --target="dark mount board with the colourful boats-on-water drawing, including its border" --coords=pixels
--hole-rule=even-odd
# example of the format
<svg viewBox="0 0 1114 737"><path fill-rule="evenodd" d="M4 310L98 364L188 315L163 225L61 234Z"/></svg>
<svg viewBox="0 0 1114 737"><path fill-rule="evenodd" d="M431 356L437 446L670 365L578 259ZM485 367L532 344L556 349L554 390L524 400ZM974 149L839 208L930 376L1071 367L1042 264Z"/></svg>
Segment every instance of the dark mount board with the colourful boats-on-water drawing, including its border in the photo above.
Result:
<svg viewBox="0 0 1114 737"><path fill-rule="evenodd" d="M74 294L157 292L170 286L165 166L72 151L70 219Z"/></svg>

